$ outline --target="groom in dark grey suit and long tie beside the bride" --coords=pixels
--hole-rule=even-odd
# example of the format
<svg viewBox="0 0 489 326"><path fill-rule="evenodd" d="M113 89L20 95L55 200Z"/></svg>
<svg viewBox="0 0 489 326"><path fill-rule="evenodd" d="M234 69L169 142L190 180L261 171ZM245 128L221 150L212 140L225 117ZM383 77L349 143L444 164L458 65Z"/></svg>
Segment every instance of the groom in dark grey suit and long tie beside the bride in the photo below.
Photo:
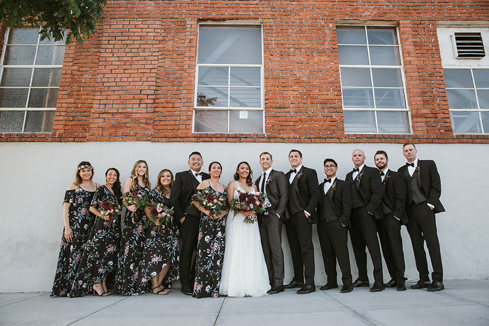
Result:
<svg viewBox="0 0 489 326"><path fill-rule="evenodd" d="M265 256L270 289L268 294L284 291L284 252L282 251L282 224L288 219L285 207L288 200L288 183L285 174L271 168L273 159L270 153L260 154L262 175L255 181L259 192L265 193L268 215L258 216L261 246Z"/></svg>

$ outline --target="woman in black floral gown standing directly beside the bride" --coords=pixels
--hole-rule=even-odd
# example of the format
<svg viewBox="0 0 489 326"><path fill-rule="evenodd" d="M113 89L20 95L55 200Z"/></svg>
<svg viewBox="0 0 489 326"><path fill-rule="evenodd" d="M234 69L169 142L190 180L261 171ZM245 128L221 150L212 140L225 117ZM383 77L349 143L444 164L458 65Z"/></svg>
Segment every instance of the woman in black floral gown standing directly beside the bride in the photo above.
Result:
<svg viewBox="0 0 489 326"><path fill-rule="evenodd" d="M211 187L227 199L226 187L219 182L221 172L221 164L212 162L209 165L210 179L202 181L197 186L197 192ZM225 202L227 203L227 200ZM220 215L215 216L212 211L205 209L199 203L193 203L202 212L197 241L193 296L197 298L218 297L223 270L224 231L226 229L226 219L223 218L229 212L229 208L223 209Z"/></svg>

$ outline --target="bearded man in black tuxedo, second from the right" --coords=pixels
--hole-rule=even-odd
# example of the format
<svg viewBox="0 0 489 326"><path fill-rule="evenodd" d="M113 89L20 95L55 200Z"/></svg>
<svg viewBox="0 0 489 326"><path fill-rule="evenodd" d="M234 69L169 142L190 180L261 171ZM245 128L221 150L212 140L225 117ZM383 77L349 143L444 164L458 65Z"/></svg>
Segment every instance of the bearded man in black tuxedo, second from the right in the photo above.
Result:
<svg viewBox="0 0 489 326"><path fill-rule="evenodd" d="M378 211L383 219L377 220L378 237L386 260L391 280L386 287L406 290L404 253L402 251L401 225L408 223L406 215L406 182L402 174L389 170L389 159L385 151L377 151L373 157L375 166L381 173L384 197Z"/></svg>

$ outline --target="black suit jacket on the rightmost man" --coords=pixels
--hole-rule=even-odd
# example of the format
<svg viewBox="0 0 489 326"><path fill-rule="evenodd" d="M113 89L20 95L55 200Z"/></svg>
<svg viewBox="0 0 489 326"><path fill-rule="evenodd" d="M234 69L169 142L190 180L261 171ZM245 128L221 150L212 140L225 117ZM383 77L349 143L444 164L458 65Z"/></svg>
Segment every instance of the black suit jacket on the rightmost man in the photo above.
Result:
<svg viewBox="0 0 489 326"><path fill-rule="evenodd" d="M438 174L437 165L434 161L429 159L418 159L418 185L423 193L423 196L428 199L428 204L434 206L433 212L444 212L445 208L440 202L440 195L442 194L442 182L440 180L440 174ZM404 165L400 167L399 172L406 181L406 195L411 196L411 179L408 171L408 166Z"/></svg>

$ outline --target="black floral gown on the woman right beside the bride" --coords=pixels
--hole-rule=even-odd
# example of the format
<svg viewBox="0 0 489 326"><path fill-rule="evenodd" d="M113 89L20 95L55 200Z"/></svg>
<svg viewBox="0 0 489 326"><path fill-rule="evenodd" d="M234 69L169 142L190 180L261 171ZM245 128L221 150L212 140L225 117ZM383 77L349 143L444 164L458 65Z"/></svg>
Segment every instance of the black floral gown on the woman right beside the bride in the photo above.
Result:
<svg viewBox="0 0 489 326"><path fill-rule="evenodd" d="M220 192L218 192L220 193ZM224 194L227 198L226 189ZM201 214L195 263L194 297L218 297L223 271L226 216L211 220Z"/></svg>

